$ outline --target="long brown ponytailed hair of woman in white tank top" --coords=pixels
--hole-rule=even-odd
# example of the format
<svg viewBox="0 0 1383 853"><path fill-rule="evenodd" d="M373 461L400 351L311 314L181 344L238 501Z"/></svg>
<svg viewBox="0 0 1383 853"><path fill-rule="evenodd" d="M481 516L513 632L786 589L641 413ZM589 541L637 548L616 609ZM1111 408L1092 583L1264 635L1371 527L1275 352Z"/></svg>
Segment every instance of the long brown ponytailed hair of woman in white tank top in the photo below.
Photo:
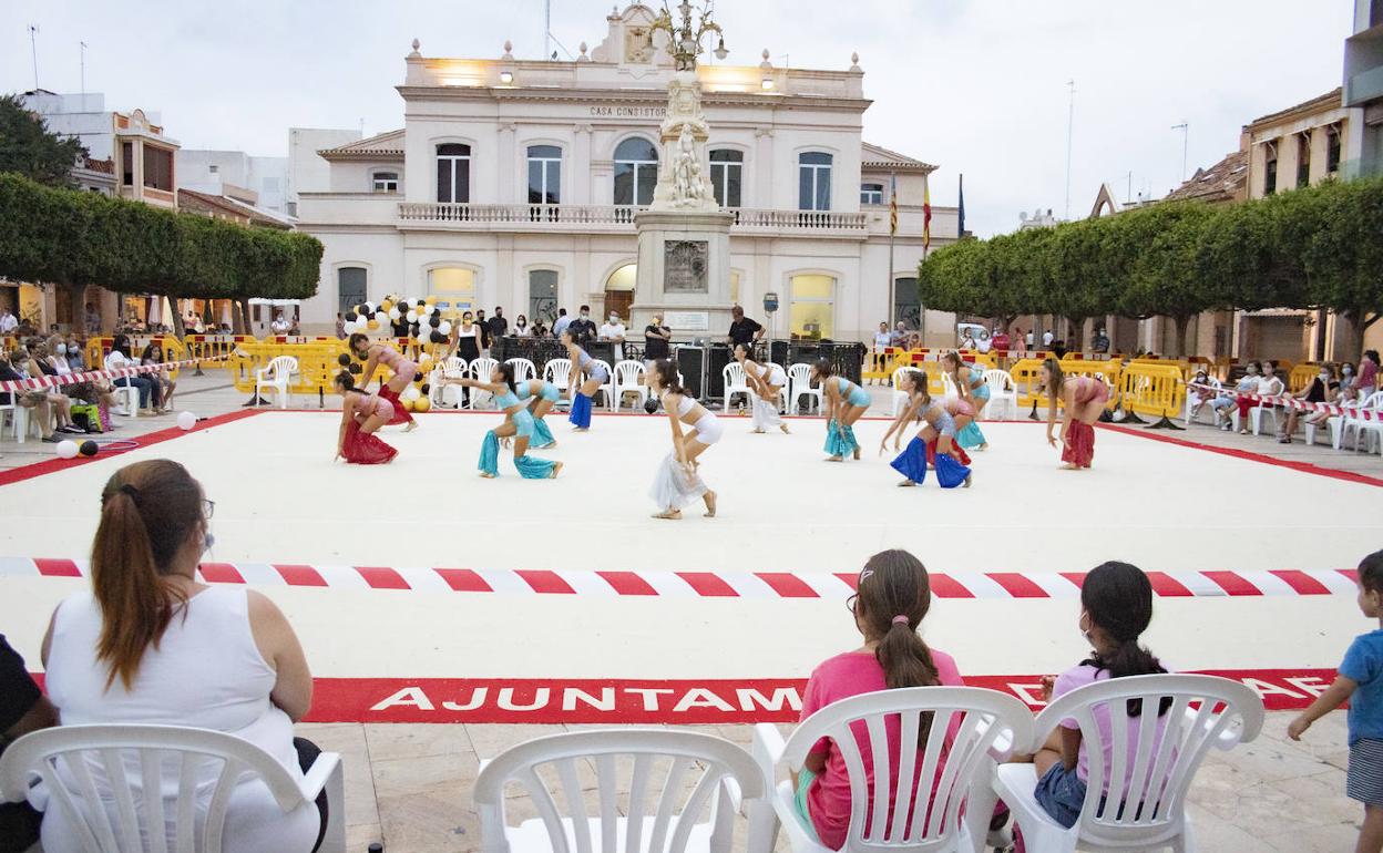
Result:
<svg viewBox="0 0 1383 853"><path fill-rule="evenodd" d="M169 582L173 559L205 524L202 487L170 459L136 462L101 489L101 524L91 545L91 588L101 607L97 661L134 684L144 651L187 604Z"/></svg>

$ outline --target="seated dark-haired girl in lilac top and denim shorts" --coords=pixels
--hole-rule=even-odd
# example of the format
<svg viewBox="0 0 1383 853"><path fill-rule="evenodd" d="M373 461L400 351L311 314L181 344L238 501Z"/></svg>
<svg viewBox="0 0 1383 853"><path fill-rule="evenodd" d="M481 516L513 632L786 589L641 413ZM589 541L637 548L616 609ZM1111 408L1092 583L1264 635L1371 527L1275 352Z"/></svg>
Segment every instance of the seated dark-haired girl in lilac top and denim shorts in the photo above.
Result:
<svg viewBox="0 0 1383 853"><path fill-rule="evenodd" d="M1127 563L1104 563L1097 565L1080 586L1080 633L1093 651L1088 658L1061 673L1055 679L1043 679L1043 700L1050 702L1077 687L1119 679L1130 675L1153 675L1167 672L1151 651L1138 644L1138 637L1152 622L1152 583L1137 565ZM1109 788L1109 773L1113 767L1113 737L1111 708L1094 709L1095 724L1104 741L1104 780ZM1140 716L1145 711L1159 718L1167 708L1142 708L1131 701L1124 709L1129 716ZM1159 719L1156 740L1160 742L1166 720ZM1129 729L1129 780L1133 778L1134 758L1138 753L1138 731ZM1037 802L1061 825L1070 828L1080 817L1086 802L1086 780L1090 778L1090 756L1082 742L1080 727L1075 719L1061 722L1047 744L1033 756L1037 769ZM1129 789L1126 780L1123 789Z"/></svg>

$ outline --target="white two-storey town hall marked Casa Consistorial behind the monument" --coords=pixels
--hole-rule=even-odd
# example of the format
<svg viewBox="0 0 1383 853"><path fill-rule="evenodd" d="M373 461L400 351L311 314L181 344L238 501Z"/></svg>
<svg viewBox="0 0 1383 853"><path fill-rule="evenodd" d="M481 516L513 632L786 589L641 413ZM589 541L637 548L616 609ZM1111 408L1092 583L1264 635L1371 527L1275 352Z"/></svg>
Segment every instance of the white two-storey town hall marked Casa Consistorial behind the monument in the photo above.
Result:
<svg viewBox="0 0 1383 853"><path fill-rule="evenodd" d="M674 75L653 18L642 4L611 14L604 40L571 62L509 50L429 58L414 41L398 87L404 127L321 151L329 189L300 194L300 228L326 247L304 332L329 332L337 312L396 292L502 306L510 324L579 304L628 318L633 214L653 199ZM845 71L701 64L697 75L711 133L704 166L736 213L732 301L774 337L871 340L892 293L893 314L917 328L922 194L935 166L863 140L859 59ZM932 206L932 250L956 238L956 220L954 207ZM772 318L766 293L780 301ZM954 340L952 315L928 314L927 337ZM669 319L678 340L725 333Z"/></svg>

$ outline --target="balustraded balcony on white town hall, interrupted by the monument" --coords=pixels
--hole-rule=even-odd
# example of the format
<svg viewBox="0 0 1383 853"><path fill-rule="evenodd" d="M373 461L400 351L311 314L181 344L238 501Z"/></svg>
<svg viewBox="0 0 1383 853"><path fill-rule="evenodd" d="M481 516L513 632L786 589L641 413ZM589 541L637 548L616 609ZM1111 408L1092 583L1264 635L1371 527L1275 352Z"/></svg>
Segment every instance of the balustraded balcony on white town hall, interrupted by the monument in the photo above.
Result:
<svg viewBox="0 0 1383 853"><path fill-rule="evenodd" d="M633 234L635 205L479 205L402 202L401 229ZM834 210L733 207L732 234L768 236L869 236L869 214Z"/></svg>

